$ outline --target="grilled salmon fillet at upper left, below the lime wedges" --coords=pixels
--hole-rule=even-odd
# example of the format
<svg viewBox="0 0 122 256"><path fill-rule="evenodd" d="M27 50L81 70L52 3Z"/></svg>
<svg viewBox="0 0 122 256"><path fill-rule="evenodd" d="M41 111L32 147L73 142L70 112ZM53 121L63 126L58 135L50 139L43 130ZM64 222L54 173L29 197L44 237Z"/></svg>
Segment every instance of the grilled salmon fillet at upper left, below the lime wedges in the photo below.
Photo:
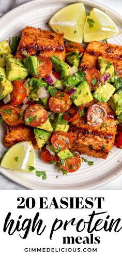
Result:
<svg viewBox="0 0 122 256"><path fill-rule="evenodd" d="M22 52L27 51L28 55L35 56L51 57L55 54L64 61L65 47L63 36L64 34L59 35L40 28L26 26L22 31L16 57L22 59Z"/></svg>

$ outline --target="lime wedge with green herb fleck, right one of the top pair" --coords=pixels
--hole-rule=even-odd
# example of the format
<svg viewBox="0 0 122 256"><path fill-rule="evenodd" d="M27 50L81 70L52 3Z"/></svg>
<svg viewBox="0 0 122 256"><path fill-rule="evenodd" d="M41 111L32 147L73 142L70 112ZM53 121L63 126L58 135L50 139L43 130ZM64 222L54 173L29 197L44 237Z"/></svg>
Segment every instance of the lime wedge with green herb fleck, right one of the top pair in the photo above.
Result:
<svg viewBox="0 0 122 256"><path fill-rule="evenodd" d="M101 41L120 32L113 20L103 11L93 8L86 16L84 42Z"/></svg>

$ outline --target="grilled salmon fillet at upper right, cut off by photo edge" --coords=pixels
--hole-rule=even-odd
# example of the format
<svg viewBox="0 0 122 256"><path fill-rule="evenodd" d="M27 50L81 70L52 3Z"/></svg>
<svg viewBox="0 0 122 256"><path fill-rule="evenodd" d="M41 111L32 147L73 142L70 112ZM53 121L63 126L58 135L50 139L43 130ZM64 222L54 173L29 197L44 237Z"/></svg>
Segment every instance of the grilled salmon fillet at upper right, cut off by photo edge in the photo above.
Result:
<svg viewBox="0 0 122 256"><path fill-rule="evenodd" d="M118 76L122 77L122 46L103 42L89 42L80 63L82 70L98 68L98 57L113 63Z"/></svg>

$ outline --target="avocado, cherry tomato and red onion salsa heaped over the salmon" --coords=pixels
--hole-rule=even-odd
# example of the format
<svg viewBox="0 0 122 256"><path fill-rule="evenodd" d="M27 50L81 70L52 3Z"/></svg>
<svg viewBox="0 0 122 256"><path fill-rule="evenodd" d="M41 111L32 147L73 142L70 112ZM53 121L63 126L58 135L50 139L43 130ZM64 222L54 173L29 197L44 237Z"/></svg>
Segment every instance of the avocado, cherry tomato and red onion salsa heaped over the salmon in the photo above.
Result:
<svg viewBox="0 0 122 256"><path fill-rule="evenodd" d="M32 141L36 141L44 162L57 163L63 175L77 171L85 158L71 149L75 138L68 133L70 126L85 118L87 125L106 127L106 110L99 107L99 102L108 102L122 123L122 78L111 62L99 56L99 79L91 68L89 80L89 71L79 68L82 54L78 47L66 53L65 62L54 54L41 58L26 51L22 59L17 58L19 40L13 37L10 44L7 40L0 42L0 118L9 126L22 123L30 133L33 131ZM94 150L94 145L89 148Z"/></svg>

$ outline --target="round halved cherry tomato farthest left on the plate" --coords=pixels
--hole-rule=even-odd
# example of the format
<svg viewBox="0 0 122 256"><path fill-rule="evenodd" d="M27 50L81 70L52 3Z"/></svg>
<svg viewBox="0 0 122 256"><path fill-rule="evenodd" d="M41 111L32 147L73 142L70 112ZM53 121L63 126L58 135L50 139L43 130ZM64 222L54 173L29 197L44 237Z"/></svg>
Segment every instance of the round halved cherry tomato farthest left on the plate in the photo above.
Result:
<svg viewBox="0 0 122 256"><path fill-rule="evenodd" d="M23 112L18 106L8 104L3 106L0 112L7 125L14 126L22 122Z"/></svg>

